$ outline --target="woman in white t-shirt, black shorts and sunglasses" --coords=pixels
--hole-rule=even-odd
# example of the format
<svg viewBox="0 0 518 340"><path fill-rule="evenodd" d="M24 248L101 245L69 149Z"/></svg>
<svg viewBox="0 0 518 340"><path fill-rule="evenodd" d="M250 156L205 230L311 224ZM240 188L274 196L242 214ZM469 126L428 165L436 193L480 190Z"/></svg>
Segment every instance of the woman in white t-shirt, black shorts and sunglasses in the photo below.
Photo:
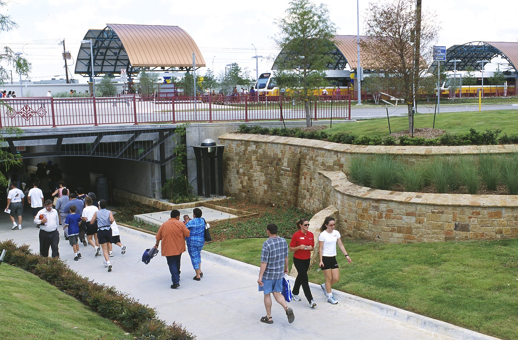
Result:
<svg viewBox="0 0 518 340"><path fill-rule="evenodd" d="M338 263L336 262L337 243L343 255L346 256L347 261L351 263L351 258L347 254L346 248L343 247L342 240L340 240L340 233L335 230L335 224L333 217L326 217L322 227L320 227L319 235L320 268L322 268L322 272L325 276L325 284L320 285L320 287L322 287L327 302L330 304L338 303L331 293L331 285L337 283L340 279L340 271L338 270Z"/></svg>

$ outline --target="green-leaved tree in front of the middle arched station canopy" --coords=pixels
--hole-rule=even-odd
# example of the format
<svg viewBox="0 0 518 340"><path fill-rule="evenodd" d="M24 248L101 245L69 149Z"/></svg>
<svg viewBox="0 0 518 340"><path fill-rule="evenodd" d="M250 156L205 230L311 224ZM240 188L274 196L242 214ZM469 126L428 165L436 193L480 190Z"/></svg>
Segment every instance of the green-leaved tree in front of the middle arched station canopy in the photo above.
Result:
<svg viewBox="0 0 518 340"><path fill-rule="evenodd" d="M277 85L304 100L309 127L309 100L315 90L328 85L324 70L333 61L328 53L333 49L336 27L326 6L309 0L292 0L286 16L276 23L280 31L276 43L281 50L274 72Z"/></svg>

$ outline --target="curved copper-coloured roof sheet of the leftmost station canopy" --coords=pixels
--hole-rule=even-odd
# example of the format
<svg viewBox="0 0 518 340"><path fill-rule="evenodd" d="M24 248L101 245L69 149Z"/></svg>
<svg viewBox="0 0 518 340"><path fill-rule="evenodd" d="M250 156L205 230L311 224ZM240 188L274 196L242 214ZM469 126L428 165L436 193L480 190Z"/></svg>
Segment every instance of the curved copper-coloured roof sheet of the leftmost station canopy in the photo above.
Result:
<svg viewBox="0 0 518 340"><path fill-rule="evenodd" d="M196 66L205 60L193 38L178 26L107 24L122 41L131 65L136 66L192 66L192 52Z"/></svg>

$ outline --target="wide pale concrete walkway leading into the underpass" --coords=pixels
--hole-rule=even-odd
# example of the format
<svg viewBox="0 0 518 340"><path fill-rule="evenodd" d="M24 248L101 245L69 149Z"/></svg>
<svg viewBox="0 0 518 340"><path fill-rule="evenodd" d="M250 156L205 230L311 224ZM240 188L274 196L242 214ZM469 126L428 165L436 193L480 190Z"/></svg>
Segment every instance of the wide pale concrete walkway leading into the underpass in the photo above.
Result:
<svg viewBox="0 0 518 340"><path fill-rule="evenodd" d="M0 240L13 239L39 250L38 232L26 210L22 230L11 230L7 214L0 217ZM273 324L259 319L266 315L263 294L257 291L258 267L204 252L201 281L192 279L194 270L188 253L182 255L178 289L170 289L171 278L165 257L149 264L140 261L143 251L153 246L153 235L120 227L126 254L114 245L113 271L108 273L103 257L94 257L89 245L80 245L82 258L74 254L60 230L60 255L71 269L96 282L112 285L141 303L156 308L167 323L181 323L197 339L315 339L337 336L347 339L495 339L451 324L422 317L402 309L336 292L337 305L326 303L318 285L311 284L317 306L292 301L295 322L289 324L282 307L274 302ZM260 256L260 254L257 254ZM334 291L335 292L335 291Z"/></svg>

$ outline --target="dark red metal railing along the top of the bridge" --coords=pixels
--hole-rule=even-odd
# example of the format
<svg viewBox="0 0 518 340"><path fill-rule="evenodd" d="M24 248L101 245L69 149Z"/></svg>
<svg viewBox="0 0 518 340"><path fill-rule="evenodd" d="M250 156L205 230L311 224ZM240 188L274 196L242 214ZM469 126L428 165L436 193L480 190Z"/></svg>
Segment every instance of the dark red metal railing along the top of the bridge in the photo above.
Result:
<svg viewBox="0 0 518 340"><path fill-rule="evenodd" d="M290 97L197 96L106 98L3 98L0 128L101 124L266 121L306 119L305 102ZM310 116L351 119L350 96L308 102Z"/></svg>

